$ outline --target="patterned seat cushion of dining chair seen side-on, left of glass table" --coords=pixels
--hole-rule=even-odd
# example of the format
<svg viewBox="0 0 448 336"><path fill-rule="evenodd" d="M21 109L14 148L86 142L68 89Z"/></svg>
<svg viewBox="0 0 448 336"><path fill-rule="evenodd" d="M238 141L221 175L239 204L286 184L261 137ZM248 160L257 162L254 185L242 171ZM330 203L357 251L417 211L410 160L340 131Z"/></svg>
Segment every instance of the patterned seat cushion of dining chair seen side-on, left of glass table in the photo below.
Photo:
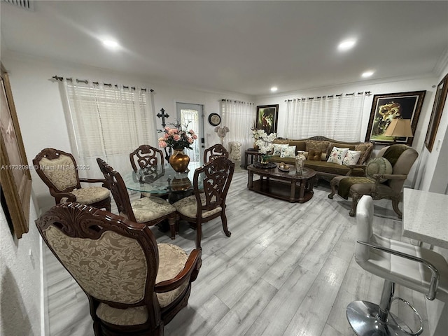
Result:
<svg viewBox="0 0 448 336"><path fill-rule="evenodd" d="M156 218L172 214L176 209L160 197L144 197L131 203L137 223L153 221ZM120 216L127 217L120 213Z"/></svg>

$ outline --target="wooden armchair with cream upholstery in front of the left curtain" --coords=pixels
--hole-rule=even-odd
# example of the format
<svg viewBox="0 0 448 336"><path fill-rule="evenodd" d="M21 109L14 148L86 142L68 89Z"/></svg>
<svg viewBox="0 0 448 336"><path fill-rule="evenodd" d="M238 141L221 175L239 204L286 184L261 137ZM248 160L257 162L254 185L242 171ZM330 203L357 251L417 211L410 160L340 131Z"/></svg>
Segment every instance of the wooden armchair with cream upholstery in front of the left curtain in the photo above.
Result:
<svg viewBox="0 0 448 336"><path fill-rule="evenodd" d="M81 187L85 183L106 183L104 179L82 179L78 176L78 165L70 153L55 148L44 148L33 159L38 176L50 189L56 204L78 202L98 209L111 211L111 193L106 185Z"/></svg>

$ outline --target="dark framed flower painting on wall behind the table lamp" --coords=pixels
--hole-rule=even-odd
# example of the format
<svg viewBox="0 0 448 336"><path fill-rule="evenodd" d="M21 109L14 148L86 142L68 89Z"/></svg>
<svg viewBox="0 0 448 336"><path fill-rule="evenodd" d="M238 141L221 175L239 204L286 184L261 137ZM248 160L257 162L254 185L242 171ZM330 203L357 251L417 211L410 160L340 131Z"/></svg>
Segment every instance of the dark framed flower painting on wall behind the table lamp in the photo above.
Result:
<svg viewBox="0 0 448 336"><path fill-rule="evenodd" d="M395 118L409 119L412 134L415 134L425 94L426 91L375 94L365 141L372 141L375 144L392 144L394 137L388 137L384 133ZM411 146L413 139L414 137L398 137L395 142Z"/></svg>

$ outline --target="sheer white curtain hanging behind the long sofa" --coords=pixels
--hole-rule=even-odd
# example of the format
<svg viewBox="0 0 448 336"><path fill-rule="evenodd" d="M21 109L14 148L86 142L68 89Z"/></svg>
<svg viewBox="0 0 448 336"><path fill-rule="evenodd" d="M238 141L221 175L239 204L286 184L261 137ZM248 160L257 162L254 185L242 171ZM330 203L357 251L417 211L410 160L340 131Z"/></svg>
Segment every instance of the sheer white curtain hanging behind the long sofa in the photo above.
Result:
<svg viewBox="0 0 448 336"><path fill-rule="evenodd" d="M339 94L286 102L286 137L322 135L335 140L360 141L365 94Z"/></svg>

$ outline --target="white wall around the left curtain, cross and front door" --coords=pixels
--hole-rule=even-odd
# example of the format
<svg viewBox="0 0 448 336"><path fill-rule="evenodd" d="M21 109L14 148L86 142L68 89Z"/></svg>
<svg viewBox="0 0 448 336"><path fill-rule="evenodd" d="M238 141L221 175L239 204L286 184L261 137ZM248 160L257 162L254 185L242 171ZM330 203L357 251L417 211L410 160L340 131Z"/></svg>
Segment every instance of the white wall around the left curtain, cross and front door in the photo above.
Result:
<svg viewBox="0 0 448 336"><path fill-rule="evenodd" d="M6 53L1 56L1 62L9 73L29 165L32 165L32 160L36 154L46 147L73 153L76 158L75 151L71 148L69 141L59 87L57 82L52 80L52 76L55 75L99 80L104 81L104 83L137 85L153 89L155 90L155 114L160 112L160 109L165 109L170 116L168 122L174 122L176 119L176 102L202 104L204 105L205 146L211 146L219 142L214 127L209 125L207 120L209 113L220 113L219 102L221 99L241 99L246 102L253 102L252 97L244 94L205 92L188 87L151 83L148 78L130 77L79 64L59 64L17 53ZM162 119L155 118L155 120L157 128L161 129ZM79 160L77 160L77 163L79 165L83 164ZM98 167L91 167L91 169L95 169L97 172L94 176L102 176ZM40 209L48 209L54 205L54 198L50 196L47 186L34 170L31 171L31 178L33 180L32 188Z"/></svg>

